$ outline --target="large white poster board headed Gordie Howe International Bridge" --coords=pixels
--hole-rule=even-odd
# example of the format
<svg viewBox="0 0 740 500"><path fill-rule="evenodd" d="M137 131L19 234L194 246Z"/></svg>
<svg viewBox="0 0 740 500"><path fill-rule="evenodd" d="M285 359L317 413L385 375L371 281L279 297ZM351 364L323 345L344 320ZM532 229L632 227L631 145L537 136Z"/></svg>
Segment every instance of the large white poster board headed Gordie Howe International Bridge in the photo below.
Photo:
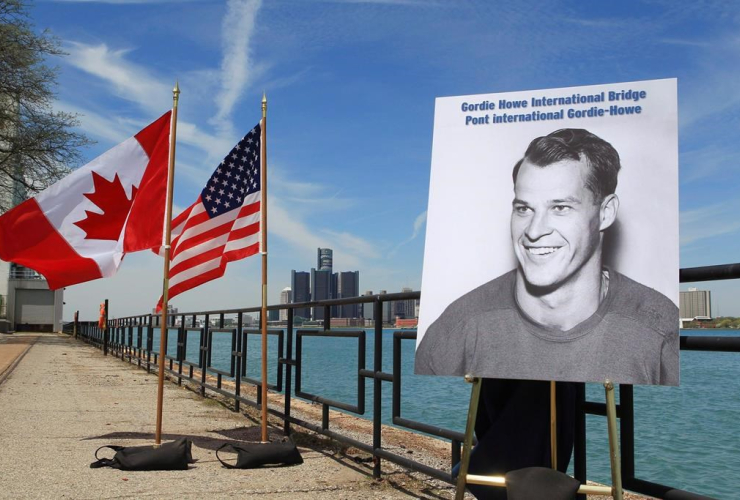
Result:
<svg viewBox="0 0 740 500"><path fill-rule="evenodd" d="M438 98L415 372L678 385L677 82Z"/></svg>

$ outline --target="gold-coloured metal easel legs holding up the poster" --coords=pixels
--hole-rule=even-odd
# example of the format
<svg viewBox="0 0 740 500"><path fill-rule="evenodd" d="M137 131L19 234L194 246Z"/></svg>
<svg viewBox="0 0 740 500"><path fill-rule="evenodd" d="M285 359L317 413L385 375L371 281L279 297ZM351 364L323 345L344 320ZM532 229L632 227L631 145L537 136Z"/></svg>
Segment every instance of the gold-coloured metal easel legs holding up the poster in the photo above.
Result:
<svg viewBox="0 0 740 500"><path fill-rule="evenodd" d="M481 379L471 375L465 376L465 381L472 384L470 391L470 406L468 407L468 418L465 426L465 439L463 441L463 453L460 461L460 474L457 476L457 487L455 490L455 500L463 500L465 497L466 484L479 484L482 486L505 487L506 479L504 476L480 476L468 474L470 466L470 453L473 447L473 433L475 432L475 417L478 414L478 401L480 400ZM550 426L555 431L555 383L551 385L550 391ZM596 486L582 484L578 488L578 493L585 495L611 495L615 500L622 500L622 472L619 461L619 443L617 441L617 405L614 399L614 384L607 380L604 383L606 392L606 418L609 433L609 459L612 471L612 486ZM551 441L552 456L556 455L555 440ZM553 464L555 462L553 461Z"/></svg>

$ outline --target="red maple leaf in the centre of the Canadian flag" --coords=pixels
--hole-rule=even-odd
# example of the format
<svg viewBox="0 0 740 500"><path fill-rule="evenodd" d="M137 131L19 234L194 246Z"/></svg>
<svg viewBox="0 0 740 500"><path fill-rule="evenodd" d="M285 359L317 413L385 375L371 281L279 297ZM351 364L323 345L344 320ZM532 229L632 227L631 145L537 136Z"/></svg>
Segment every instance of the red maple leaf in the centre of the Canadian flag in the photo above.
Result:
<svg viewBox="0 0 740 500"><path fill-rule="evenodd" d="M95 203L103 213L96 214L85 210L86 218L74 224L85 231L86 240L118 241L123 225L126 223L126 217L131 211L131 204L136 197L136 186L132 186L129 200L118 174L112 181L108 181L96 172L92 174L94 190L92 193L85 193L85 198Z"/></svg>

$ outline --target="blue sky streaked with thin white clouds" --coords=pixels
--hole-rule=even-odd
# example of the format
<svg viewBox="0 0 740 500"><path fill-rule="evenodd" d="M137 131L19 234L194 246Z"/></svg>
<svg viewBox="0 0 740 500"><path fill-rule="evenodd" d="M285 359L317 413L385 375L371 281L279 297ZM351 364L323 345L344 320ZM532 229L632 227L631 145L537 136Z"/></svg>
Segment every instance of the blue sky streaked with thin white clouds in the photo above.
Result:
<svg viewBox="0 0 740 500"><path fill-rule="evenodd" d="M360 271L361 293L420 289L434 100L452 95L677 78L681 267L739 260L738 2L36 0L30 14L67 53L51 61L55 105L96 141L87 160L170 109L179 83L175 213L266 93L270 304L318 247ZM257 306L260 280L259 258L230 263L171 304ZM740 316L738 285L682 289ZM161 291L161 259L129 254L114 278L68 287L64 318L106 298L114 317L144 314Z"/></svg>

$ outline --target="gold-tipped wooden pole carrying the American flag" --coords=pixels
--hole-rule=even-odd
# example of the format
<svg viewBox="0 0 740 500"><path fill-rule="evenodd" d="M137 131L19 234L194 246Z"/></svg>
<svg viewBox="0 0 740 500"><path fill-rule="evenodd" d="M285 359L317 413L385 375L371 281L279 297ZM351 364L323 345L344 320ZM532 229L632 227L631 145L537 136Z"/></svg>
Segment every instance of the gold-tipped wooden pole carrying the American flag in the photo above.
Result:
<svg viewBox="0 0 740 500"><path fill-rule="evenodd" d="M262 442L268 443L267 436L267 95L262 94L262 137L260 138L260 188L262 210Z"/></svg>

